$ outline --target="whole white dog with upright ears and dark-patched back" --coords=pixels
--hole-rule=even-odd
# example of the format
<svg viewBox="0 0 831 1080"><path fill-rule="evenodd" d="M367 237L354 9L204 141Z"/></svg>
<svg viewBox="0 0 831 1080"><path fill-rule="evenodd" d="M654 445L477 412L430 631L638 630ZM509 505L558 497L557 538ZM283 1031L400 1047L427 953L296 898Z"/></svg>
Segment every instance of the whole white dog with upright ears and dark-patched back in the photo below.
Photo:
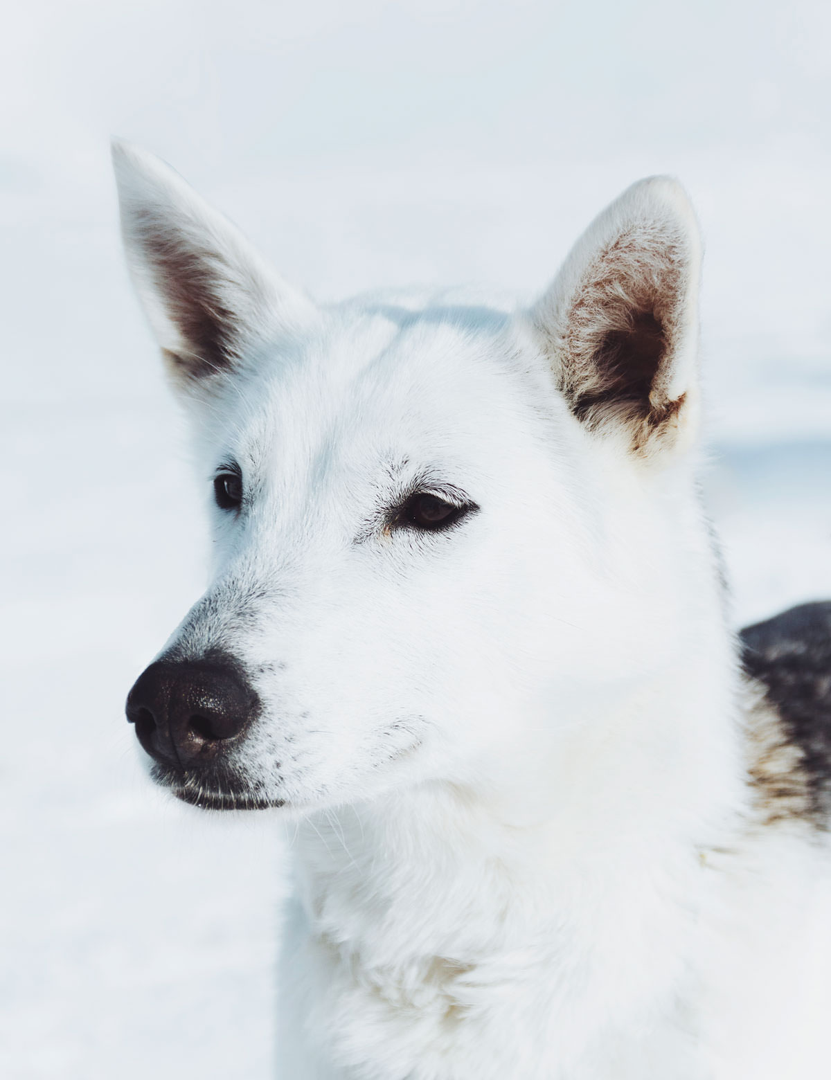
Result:
<svg viewBox="0 0 831 1080"><path fill-rule="evenodd" d="M683 189L530 308L321 307L115 160L214 540L128 718L292 823L280 1080L829 1075L831 606L731 630Z"/></svg>

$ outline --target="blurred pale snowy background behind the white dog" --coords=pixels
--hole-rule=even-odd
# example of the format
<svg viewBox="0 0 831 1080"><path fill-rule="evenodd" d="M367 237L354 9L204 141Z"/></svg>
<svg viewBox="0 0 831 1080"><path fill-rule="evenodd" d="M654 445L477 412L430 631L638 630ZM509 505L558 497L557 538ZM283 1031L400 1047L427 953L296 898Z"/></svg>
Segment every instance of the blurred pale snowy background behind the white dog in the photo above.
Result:
<svg viewBox="0 0 831 1080"><path fill-rule="evenodd" d="M29 0L0 35L0 1076L266 1080L280 846L142 777L131 683L202 586L107 138L321 298L532 296L633 179L706 238L737 622L831 596L831 5ZM282 1078L290 1080L290 1078Z"/></svg>

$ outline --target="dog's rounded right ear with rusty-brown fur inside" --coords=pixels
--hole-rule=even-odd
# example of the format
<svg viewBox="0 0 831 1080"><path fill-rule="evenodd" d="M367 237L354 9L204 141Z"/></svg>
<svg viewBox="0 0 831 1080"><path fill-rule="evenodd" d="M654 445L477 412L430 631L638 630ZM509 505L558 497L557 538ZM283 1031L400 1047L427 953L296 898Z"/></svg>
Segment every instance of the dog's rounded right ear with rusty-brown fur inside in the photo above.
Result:
<svg viewBox="0 0 831 1080"><path fill-rule="evenodd" d="M595 218L532 309L572 413L642 456L695 427L700 261L683 188L641 180Z"/></svg>

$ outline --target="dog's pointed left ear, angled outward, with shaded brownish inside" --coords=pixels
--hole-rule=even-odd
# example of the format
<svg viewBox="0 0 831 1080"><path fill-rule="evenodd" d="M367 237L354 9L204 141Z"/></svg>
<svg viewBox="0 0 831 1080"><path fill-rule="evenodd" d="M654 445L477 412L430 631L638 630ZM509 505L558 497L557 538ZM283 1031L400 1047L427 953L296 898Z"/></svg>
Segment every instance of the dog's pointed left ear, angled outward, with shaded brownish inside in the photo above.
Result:
<svg viewBox="0 0 831 1080"><path fill-rule="evenodd" d="M222 375L313 314L169 165L121 141L112 159L131 274L175 383Z"/></svg>

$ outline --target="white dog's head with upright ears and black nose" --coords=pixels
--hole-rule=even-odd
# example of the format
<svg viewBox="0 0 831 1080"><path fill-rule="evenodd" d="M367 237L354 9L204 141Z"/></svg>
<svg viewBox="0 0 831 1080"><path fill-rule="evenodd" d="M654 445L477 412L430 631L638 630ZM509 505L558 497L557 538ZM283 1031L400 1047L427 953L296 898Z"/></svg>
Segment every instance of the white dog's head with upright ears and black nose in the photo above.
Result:
<svg viewBox="0 0 831 1080"><path fill-rule="evenodd" d="M685 647L699 240L674 181L625 192L531 310L322 308L157 159L116 166L215 541L128 701L160 782L299 810L492 783Z"/></svg>

